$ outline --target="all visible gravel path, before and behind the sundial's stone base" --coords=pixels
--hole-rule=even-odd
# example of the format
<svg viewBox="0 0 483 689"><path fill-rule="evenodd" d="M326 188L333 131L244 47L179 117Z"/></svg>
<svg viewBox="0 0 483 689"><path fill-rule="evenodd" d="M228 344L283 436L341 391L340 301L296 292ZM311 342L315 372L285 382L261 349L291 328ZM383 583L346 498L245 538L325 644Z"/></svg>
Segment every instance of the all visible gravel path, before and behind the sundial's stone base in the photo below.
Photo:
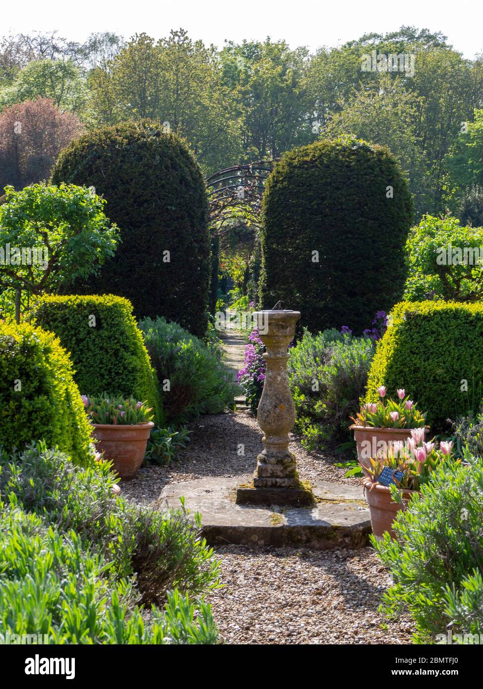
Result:
<svg viewBox="0 0 483 689"><path fill-rule="evenodd" d="M241 343L226 338L232 368ZM254 471L262 433L248 412L203 416L190 424L191 442L178 462L141 469L123 482L140 504L158 499L167 483ZM324 453L309 453L291 435L302 480L353 485ZM225 644L410 644L409 619L389 622L377 612L389 574L372 548L309 551L296 548L214 548L223 586L208 596Z"/></svg>

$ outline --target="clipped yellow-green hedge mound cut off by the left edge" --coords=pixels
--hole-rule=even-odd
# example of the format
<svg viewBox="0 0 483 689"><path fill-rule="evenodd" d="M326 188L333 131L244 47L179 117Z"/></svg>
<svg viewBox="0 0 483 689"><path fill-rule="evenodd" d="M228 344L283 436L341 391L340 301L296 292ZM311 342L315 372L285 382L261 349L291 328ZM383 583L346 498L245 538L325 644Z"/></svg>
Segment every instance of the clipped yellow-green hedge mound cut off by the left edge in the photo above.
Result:
<svg viewBox="0 0 483 689"><path fill-rule="evenodd" d="M91 426L59 340L32 325L0 322L0 446L7 453L32 441L92 460Z"/></svg>

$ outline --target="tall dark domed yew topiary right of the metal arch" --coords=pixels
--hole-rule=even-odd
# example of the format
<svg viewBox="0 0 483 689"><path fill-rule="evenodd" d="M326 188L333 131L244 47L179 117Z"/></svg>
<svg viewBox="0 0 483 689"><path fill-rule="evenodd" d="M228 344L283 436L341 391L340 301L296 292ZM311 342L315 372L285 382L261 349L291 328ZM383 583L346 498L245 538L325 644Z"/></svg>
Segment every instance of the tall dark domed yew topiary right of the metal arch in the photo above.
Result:
<svg viewBox="0 0 483 689"><path fill-rule="evenodd" d="M265 187L263 307L281 299L301 312L299 327L361 333L400 299L411 220L407 181L386 148L340 138L289 152Z"/></svg>

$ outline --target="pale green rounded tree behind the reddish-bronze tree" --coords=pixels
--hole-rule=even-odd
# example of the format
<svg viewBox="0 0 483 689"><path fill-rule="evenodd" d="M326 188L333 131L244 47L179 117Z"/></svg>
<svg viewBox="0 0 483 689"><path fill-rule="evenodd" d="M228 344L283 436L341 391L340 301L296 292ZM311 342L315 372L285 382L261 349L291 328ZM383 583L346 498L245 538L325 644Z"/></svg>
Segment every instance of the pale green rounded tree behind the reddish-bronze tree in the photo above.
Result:
<svg viewBox="0 0 483 689"><path fill-rule="evenodd" d="M70 60L34 60L0 92L0 104L12 105L41 98L52 99L63 112L85 115L88 90L85 79Z"/></svg>

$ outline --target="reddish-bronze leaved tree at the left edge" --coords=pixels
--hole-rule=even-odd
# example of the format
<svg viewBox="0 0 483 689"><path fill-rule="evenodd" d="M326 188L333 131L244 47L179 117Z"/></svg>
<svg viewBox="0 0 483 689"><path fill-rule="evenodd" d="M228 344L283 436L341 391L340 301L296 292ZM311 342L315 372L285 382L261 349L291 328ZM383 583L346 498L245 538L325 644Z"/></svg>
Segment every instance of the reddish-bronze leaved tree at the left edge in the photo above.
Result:
<svg viewBox="0 0 483 689"><path fill-rule="evenodd" d="M4 108L0 114L0 194L6 185L23 188L48 179L61 150L83 125L52 100L41 98Z"/></svg>

